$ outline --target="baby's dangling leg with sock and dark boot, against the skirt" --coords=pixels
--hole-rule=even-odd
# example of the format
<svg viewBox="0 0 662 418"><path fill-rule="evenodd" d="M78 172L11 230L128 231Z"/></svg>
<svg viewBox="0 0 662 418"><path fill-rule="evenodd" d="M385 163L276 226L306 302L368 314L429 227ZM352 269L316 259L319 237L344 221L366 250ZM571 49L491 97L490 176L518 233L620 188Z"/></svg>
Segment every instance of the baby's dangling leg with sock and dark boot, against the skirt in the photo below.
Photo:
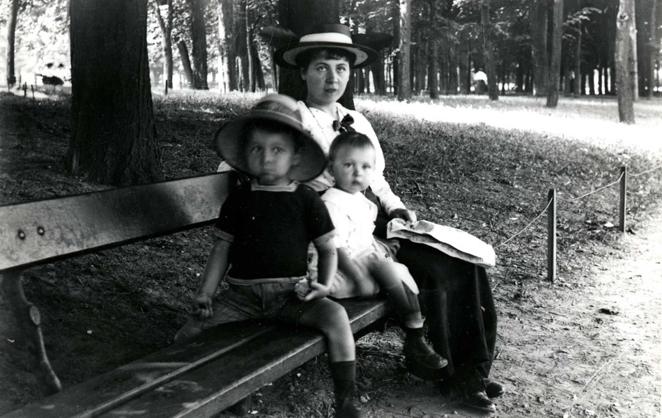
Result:
<svg viewBox="0 0 662 418"><path fill-rule="evenodd" d="M396 304L402 316L403 330L406 334L403 352L410 371L424 378L425 373L417 372L420 368L441 369L448 364L448 360L441 357L425 340L424 318L421 315L418 298L403 285L396 266L396 263L378 262L370 263L367 267L388 297Z"/></svg>

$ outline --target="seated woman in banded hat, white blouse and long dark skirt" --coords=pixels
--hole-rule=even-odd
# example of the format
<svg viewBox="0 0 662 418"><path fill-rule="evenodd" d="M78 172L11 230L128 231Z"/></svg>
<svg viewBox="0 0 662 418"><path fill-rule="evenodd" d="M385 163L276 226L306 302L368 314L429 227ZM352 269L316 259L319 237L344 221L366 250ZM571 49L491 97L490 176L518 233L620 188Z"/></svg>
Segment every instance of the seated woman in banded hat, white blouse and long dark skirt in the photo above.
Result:
<svg viewBox="0 0 662 418"><path fill-rule="evenodd" d="M388 219L399 217L413 222L416 214L406 208L385 180L384 155L370 123L362 114L337 103L351 70L368 65L376 55L367 47L353 44L347 26L325 24L291 47L279 50L275 60L279 65L300 69L307 86L305 100L298 102L302 121L327 155L334 137L344 130L366 134L373 142L376 172L371 193L366 196L383 210L375 233L385 238ZM322 192L333 185L333 178L325 171L310 185ZM434 349L449 359L448 366L440 371L418 370L415 374L442 381L439 386L445 391L456 387L468 405L494 412L491 398L500 396L503 389L487 380L497 320L485 269L407 240L401 240L397 258L409 268L420 288L419 302Z"/></svg>

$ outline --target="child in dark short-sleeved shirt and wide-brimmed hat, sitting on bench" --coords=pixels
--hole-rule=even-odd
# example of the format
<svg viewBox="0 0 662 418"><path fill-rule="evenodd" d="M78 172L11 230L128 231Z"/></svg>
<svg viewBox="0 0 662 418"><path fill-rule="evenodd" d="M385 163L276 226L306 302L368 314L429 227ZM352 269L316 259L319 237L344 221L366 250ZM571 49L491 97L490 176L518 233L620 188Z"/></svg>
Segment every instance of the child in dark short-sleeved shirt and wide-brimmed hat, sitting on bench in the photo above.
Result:
<svg viewBox="0 0 662 418"><path fill-rule="evenodd" d="M295 100L284 95L268 95L226 124L216 144L224 160L252 181L233 190L221 208L192 318L176 341L248 319L315 327L328 339L336 417L360 417L348 316L325 297L337 268L334 226L318 194L299 183L324 169L321 148L303 131ZM307 283L310 242L320 254L318 279L297 293L299 282ZM223 277L229 288L215 295Z"/></svg>

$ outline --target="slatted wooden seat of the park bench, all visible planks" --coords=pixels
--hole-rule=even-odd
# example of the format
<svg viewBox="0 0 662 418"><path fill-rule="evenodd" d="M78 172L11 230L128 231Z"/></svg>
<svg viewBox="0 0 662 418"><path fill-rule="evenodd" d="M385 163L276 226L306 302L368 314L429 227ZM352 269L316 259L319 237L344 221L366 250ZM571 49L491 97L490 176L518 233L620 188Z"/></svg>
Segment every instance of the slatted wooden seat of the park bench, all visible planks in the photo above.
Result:
<svg viewBox="0 0 662 418"><path fill-rule="evenodd" d="M387 311L383 300L342 303L355 333ZM146 408L149 417L213 416L324 351L318 332L283 332L258 323L222 325L201 339L175 344L3 418L134 417ZM174 388L176 400L168 396Z"/></svg>

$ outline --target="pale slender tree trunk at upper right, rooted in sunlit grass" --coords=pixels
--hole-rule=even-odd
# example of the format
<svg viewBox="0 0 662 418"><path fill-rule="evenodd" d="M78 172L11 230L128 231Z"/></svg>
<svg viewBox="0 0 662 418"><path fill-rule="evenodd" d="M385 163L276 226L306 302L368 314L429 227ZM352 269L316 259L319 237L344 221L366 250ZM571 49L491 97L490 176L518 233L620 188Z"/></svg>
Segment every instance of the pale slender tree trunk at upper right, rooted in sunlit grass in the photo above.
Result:
<svg viewBox="0 0 662 418"><path fill-rule="evenodd" d="M616 93L618 98L618 118L623 123L634 123L634 92L630 75L630 27L633 16L628 11L634 0L619 0L616 18Z"/></svg>

